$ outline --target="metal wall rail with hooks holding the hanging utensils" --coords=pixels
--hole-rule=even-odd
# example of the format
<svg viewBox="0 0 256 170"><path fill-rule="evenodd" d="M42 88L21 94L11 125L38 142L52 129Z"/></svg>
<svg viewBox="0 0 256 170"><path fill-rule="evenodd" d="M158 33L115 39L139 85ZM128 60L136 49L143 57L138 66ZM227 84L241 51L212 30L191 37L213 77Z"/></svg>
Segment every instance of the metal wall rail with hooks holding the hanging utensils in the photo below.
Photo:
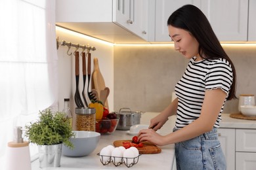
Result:
<svg viewBox="0 0 256 170"><path fill-rule="evenodd" d="M58 37L57 37L57 39L56 39L56 45L57 45L57 50L58 50L58 47L60 46L60 45L62 45L62 46L68 46L68 51L67 51L67 54L68 54L68 56L71 56L72 55L72 52L70 52L70 48L72 47L72 46L74 46L75 47L75 52L78 50L78 48L82 48L83 49L83 51L81 52L81 54L87 49L88 51L90 51L90 50L93 50L93 51L95 51L96 50L96 48L95 48L95 46L89 46L89 44L87 44L87 45L81 45L81 44L74 44L74 43L72 43L72 42L66 42L66 41L59 41L58 40ZM70 52L70 53L69 53Z"/></svg>

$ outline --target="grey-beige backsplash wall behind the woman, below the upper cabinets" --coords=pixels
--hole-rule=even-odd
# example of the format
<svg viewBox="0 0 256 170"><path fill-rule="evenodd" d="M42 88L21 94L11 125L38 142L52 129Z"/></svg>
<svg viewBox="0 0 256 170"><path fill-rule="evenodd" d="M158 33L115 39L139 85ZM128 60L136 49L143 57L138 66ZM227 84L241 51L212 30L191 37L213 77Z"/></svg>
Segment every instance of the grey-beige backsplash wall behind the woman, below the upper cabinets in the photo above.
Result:
<svg viewBox="0 0 256 170"><path fill-rule="evenodd" d="M255 46L224 45L224 50L236 67L236 95L256 94ZM188 59L172 46L115 46L114 110L129 107L160 112L165 109L187 63ZM238 99L228 101L223 112L238 112Z"/></svg>

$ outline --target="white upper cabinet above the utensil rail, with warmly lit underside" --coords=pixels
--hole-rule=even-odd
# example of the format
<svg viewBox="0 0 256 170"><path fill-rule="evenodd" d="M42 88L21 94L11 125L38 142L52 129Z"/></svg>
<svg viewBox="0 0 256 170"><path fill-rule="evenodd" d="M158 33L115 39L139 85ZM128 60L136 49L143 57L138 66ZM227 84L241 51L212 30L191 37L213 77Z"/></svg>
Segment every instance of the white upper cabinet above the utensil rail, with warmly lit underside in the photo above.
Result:
<svg viewBox="0 0 256 170"><path fill-rule="evenodd" d="M56 25L109 42L146 42L148 2L56 0Z"/></svg>

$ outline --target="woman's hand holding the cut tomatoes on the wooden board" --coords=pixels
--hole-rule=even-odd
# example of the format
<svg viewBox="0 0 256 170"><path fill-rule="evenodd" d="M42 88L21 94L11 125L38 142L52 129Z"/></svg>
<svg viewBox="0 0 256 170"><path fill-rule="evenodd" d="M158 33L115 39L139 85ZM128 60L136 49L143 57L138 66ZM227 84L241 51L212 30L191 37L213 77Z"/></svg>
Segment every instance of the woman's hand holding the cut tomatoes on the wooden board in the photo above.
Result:
<svg viewBox="0 0 256 170"><path fill-rule="evenodd" d="M160 134L156 133L153 129L142 129L138 133L138 141L149 141L151 143L154 143L158 146L163 146L164 138Z"/></svg>

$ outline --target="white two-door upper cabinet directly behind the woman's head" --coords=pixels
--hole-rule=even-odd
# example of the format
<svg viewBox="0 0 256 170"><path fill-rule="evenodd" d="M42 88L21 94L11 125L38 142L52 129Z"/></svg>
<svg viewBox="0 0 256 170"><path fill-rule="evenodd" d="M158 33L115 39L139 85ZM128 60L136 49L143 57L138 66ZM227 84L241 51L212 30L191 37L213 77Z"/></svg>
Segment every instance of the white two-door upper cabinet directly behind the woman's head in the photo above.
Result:
<svg viewBox="0 0 256 170"><path fill-rule="evenodd" d="M167 35L167 19L173 11L185 4L195 5L202 10L219 41L247 41L248 0L156 1L156 30L153 41L170 41Z"/></svg>

